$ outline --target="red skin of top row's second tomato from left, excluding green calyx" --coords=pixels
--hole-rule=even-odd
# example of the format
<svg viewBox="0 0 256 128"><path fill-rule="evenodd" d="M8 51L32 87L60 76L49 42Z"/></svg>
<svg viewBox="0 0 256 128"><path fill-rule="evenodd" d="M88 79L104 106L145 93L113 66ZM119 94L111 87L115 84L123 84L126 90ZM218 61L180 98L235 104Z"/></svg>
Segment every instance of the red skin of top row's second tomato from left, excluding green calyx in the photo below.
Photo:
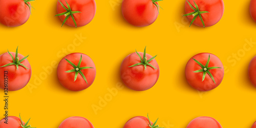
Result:
<svg viewBox="0 0 256 128"><path fill-rule="evenodd" d="M68 8L65 0L59 0L66 8ZM96 13L96 3L94 0L66 0L67 3L70 5L70 8L72 11L80 11L81 13L75 13L74 18L76 20L77 27L85 26L89 24ZM57 2L57 13L63 13L66 12L66 10L60 5L59 2ZM63 22L63 20L66 18L64 15L59 16L60 20ZM68 18L68 20L65 22L66 25L75 27L75 24L73 22L73 19L71 16Z"/></svg>

